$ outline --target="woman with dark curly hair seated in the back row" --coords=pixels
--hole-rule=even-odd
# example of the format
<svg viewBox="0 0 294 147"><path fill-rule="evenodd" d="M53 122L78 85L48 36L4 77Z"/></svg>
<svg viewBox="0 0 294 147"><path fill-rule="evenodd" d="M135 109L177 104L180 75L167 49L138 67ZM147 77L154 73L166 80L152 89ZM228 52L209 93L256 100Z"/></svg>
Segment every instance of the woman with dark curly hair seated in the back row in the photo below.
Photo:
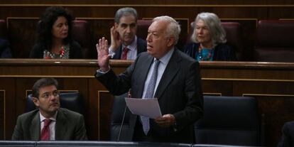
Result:
<svg viewBox="0 0 294 147"><path fill-rule="evenodd" d="M60 6L48 7L40 17L37 43L30 58L76 59L82 58L82 47L72 40L72 16Z"/></svg>

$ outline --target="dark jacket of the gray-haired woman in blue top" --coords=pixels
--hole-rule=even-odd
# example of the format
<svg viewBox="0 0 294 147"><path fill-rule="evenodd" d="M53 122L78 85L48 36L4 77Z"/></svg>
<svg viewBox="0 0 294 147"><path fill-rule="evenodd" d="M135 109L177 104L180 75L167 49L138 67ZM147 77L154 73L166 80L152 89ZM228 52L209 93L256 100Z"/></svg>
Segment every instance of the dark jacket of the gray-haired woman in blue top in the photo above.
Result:
<svg viewBox="0 0 294 147"><path fill-rule="evenodd" d="M198 55L198 49L199 49L200 43L189 43L184 46L184 52L187 53L187 55L190 55L190 57L196 59ZM232 48L229 47L229 45L224 43L219 43L214 48L214 57L213 60L219 60L219 61L234 61L236 60L236 53Z"/></svg>

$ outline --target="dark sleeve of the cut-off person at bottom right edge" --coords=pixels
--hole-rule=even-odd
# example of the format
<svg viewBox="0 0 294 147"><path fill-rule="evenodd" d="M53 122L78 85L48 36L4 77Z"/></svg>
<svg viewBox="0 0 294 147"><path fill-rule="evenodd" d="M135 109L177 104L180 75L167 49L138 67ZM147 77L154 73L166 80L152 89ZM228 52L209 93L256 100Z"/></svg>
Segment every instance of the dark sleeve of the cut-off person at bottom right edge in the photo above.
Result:
<svg viewBox="0 0 294 147"><path fill-rule="evenodd" d="M288 121L284 124L283 136L278 143L279 147L293 147L294 146L294 121Z"/></svg>

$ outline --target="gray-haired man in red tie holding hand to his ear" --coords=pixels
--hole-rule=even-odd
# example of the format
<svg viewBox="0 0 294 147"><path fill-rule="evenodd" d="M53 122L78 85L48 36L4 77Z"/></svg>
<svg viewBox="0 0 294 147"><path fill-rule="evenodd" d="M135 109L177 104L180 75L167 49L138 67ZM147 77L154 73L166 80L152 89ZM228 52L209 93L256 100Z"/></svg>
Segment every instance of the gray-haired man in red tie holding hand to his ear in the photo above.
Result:
<svg viewBox="0 0 294 147"><path fill-rule="evenodd" d="M135 60L139 53L146 51L146 41L136 36L137 20L137 11L133 8L116 11L114 26L110 29L109 53L113 59Z"/></svg>

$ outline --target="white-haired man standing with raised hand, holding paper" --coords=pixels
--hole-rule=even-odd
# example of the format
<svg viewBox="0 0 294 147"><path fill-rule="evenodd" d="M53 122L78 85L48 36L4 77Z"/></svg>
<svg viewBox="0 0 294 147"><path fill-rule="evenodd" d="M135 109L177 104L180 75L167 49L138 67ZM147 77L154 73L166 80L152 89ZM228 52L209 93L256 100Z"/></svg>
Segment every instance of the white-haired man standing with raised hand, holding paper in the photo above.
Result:
<svg viewBox="0 0 294 147"><path fill-rule="evenodd" d="M148 51L138 55L134 63L118 76L109 66L111 55L107 40L99 39L97 80L111 94L124 94L131 89L131 97L158 98L163 114L156 119L147 119L147 126L144 116L131 114L129 136L124 136L127 141L194 142L193 124L203 114L200 67L197 61L175 48L179 34L180 25L173 18L154 18L146 38ZM154 92L151 97L146 97L152 90L150 83L156 83Z"/></svg>

